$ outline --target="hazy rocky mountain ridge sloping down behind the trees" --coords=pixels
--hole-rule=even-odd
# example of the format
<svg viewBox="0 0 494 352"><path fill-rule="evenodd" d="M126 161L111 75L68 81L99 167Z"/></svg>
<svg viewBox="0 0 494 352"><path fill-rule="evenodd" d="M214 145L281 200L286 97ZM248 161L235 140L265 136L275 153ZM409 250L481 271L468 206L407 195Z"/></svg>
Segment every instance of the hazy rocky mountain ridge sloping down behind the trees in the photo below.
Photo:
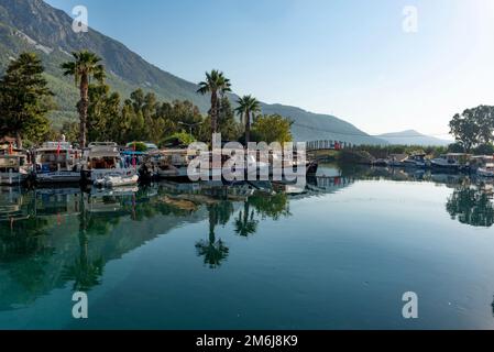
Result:
<svg viewBox="0 0 494 352"><path fill-rule="evenodd" d="M40 55L46 77L56 94L58 110L51 114L55 127L77 118L75 105L78 92L68 77L62 75L59 65L70 61L70 53L89 50L97 53L108 72L108 84L128 97L143 88L162 100L188 99L206 113L208 97L198 95L197 85L184 80L144 61L122 43L92 29L75 33L73 19L43 0L0 0L0 74L11 59L23 51ZM207 70L208 67L205 67ZM235 100L235 96L232 96ZM262 103L263 113L279 113L294 121L296 141L339 140L356 144L386 144L351 123L328 114L317 114L299 108Z"/></svg>

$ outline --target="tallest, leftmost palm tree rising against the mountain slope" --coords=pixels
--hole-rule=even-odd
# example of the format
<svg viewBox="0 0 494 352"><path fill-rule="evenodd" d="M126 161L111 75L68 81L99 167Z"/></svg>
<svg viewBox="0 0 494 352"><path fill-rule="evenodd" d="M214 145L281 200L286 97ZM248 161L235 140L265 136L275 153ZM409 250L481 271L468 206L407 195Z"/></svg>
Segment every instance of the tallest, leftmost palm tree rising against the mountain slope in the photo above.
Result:
<svg viewBox="0 0 494 352"><path fill-rule="evenodd" d="M105 68L100 64L101 58L95 53L88 51L74 52L73 56L74 61L62 64L62 69L64 69L64 76L74 76L76 86L79 86L80 100L77 103L80 122L79 143L80 147L85 147L89 107L89 84L91 77L102 84L105 79Z"/></svg>

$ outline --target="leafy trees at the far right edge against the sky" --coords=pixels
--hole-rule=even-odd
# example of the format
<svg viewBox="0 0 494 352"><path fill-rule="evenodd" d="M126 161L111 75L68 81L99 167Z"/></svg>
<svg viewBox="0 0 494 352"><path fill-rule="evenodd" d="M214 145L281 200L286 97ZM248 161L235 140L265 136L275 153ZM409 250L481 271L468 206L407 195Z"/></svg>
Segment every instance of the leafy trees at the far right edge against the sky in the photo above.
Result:
<svg viewBox="0 0 494 352"><path fill-rule="evenodd" d="M451 134L457 141L455 151L494 151L494 107L480 106L457 113L450 122Z"/></svg>

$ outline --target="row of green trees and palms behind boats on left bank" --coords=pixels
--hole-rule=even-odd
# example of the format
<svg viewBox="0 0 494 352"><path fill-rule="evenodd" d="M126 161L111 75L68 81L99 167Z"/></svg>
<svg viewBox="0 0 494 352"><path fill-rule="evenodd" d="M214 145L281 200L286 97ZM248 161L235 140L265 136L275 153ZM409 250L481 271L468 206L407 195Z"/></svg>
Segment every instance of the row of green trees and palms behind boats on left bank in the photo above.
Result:
<svg viewBox="0 0 494 352"><path fill-rule="evenodd" d="M122 99L105 82L101 58L87 51L73 53L73 61L64 63L62 69L78 87L79 121L65 123L61 131L51 128L47 114L56 107L43 77L44 68L35 54L23 53L0 80L0 135L15 136L20 147L23 139L40 143L61 134L80 146L91 141L162 144L174 135L208 142L213 132L228 141L292 140L290 122L281 116L260 116L260 102L252 96L240 98L233 109L228 98L230 80L219 70L207 73L199 84L198 94L210 95L211 101L208 116L202 116L190 101L162 102L142 89Z"/></svg>

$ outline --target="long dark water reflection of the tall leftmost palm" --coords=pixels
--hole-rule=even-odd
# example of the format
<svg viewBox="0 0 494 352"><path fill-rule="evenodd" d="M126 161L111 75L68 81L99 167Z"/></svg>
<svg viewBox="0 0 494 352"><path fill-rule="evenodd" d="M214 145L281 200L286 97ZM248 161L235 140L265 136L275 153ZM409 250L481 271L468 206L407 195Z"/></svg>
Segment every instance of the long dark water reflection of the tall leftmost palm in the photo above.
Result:
<svg viewBox="0 0 494 352"><path fill-rule="evenodd" d="M79 204L79 257L75 260L73 265L65 268L64 278L74 280L74 290L85 292L99 284L99 277L103 271L103 260L91 261L89 258L88 215L83 197L81 194Z"/></svg>

